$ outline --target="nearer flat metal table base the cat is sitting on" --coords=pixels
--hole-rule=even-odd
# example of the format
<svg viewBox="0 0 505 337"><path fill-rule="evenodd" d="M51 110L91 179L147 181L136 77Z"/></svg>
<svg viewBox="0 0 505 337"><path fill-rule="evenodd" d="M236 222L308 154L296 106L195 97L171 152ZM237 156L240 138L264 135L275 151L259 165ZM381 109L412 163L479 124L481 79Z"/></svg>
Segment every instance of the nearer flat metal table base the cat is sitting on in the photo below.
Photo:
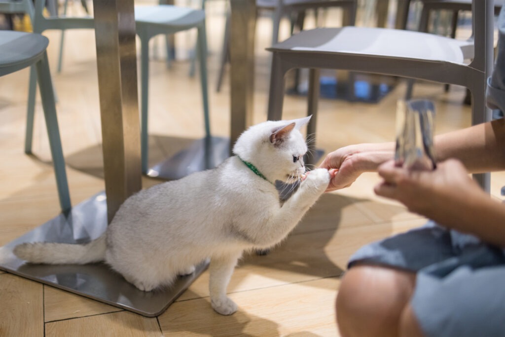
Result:
<svg viewBox="0 0 505 337"><path fill-rule="evenodd" d="M105 192L100 192L69 214L60 214L0 248L0 269L143 316L160 315L207 268L208 261L192 274L179 276L165 290L142 292L104 263L29 264L12 254L14 247L25 242L85 243L97 238L107 228L106 202Z"/></svg>

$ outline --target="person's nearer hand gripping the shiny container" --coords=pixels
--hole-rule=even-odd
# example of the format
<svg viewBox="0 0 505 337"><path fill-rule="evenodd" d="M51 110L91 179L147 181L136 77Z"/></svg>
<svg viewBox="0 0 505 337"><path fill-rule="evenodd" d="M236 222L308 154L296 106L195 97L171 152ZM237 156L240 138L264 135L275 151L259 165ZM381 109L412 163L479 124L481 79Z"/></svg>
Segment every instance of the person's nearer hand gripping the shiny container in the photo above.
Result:
<svg viewBox="0 0 505 337"><path fill-rule="evenodd" d="M437 164L433 171L408 170L388 161L378 172L384 180L374 188L377 195L397 200L409 211L435 221L461 213L470 196L484 193L455 159Z"/></svg>

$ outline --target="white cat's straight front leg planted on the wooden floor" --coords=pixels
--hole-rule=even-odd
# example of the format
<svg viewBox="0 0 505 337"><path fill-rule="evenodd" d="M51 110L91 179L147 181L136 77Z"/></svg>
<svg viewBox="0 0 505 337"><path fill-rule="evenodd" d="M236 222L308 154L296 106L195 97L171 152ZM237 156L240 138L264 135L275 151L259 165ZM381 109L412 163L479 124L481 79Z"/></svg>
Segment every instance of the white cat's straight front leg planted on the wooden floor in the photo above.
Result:
<svg viewBox="0 0 505 337"><path fill-rule="evenodd" d="M231 315L237 311L237 305L226 296L226 287L230 282L238 258L242 252L212 257L209 267L209 291L212 308L221 315Z"/></svg>

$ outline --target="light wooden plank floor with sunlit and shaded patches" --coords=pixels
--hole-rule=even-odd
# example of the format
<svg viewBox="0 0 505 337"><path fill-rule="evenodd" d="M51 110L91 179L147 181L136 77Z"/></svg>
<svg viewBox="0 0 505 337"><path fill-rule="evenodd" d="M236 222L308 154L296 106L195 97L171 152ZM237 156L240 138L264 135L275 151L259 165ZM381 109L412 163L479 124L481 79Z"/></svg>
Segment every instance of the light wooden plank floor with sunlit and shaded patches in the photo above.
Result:
<svg viewBox="0 0 505 337"><path fill-rule="evenodd" d="M77 4L77 2L76 2ZM224 27L222 2L209 2L209 81L212 131L229 134L229 83L215 91ZM284 28L286 28L284 26ZM254 120L266 120L271 23L261 18L256 49ZM285 30L284 30L285 31ZM57 74L59 32L46 34L58 93L58 118L67 161L73 204L104 189L100 153L100 118L94 34L66 33L63 71ZM177 37L178 51L192 47L194 35ZM150 63L150 162L170 156L203 136L198 78L188 76L189 62L167 69L158 40ZM156 54L160 55L156 57ZM187 53L186 53L187 54ZM59 213L54 171L50 163L40 103L35 121L34 155L23 152L28 71L0 79L0 246ZM326 153L357 142L394 139L395 104L405 92L398 82L378 104L321 100L318 147ZM416 97L432 99L437 108L436 132L470 125L470 109L462 105L465 90L419 83ZM287 96L284 116L305 115L305 98ZM374 196L376 174L363 175L351 187L324 195L285 242L268 256L245 256L228 292L238 312L221 316L210 306L205 272L168 310L145 318L76 296L51 286L0 271L1 336L335 336L334 300L350 255L373 240L421 225L425 219L399 204ZM159 180L143 178L144 187ZM505 185L493 175L492 194Z"/></svg>

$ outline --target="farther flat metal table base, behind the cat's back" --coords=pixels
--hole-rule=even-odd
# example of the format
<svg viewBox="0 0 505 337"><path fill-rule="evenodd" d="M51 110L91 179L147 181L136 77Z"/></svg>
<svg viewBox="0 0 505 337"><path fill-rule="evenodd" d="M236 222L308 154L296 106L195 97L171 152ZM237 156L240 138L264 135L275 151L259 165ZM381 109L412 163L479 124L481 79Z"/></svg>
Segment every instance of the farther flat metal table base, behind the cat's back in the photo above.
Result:
<svg viewBox="0 0 505 337"><path fill-rule="evenodd" d="M194 172L214 168L230 156L230 139L205 137L195 140L191 145L169 159L147 170L152 178L175 180Z"/></svg>

